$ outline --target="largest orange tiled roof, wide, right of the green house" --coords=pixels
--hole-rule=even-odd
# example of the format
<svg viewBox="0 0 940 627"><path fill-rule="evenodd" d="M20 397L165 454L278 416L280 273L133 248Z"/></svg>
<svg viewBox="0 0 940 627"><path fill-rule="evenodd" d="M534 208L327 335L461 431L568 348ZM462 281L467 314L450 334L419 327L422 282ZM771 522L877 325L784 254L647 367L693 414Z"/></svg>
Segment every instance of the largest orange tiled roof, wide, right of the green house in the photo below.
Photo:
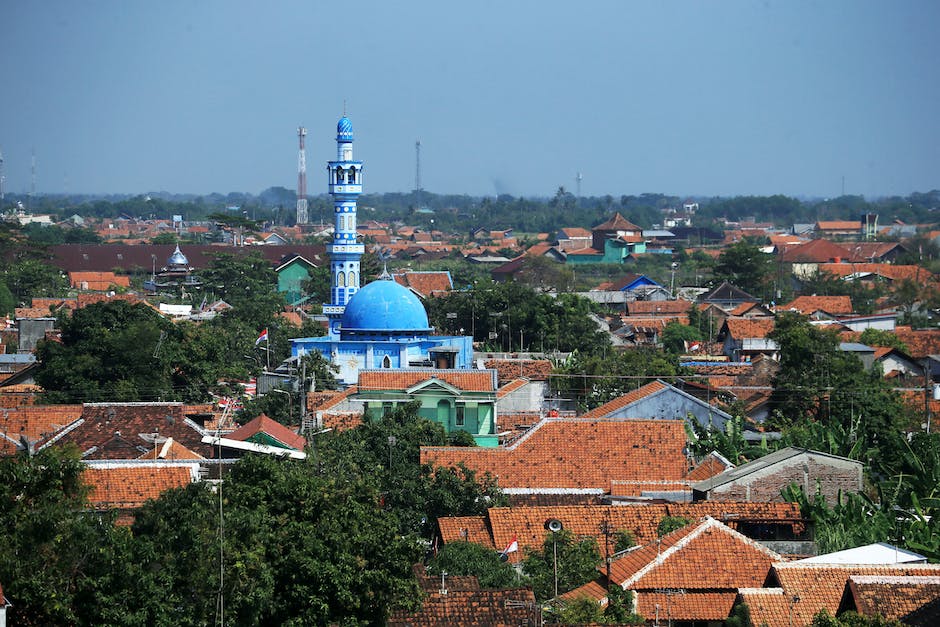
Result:
<svg viewBox="0 0 940 627"><path fill-rule="evenodd" d="M610 489L612 480L681 480L688 471L682 420L548 418L509 447L422 447L421 463L464 463L502 488Z"/></svg>

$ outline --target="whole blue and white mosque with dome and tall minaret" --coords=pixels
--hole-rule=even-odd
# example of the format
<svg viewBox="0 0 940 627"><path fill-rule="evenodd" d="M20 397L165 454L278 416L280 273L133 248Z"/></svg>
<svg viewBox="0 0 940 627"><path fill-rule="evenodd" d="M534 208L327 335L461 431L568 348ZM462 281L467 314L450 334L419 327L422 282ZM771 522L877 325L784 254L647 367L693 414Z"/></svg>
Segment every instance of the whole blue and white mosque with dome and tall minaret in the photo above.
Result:
<svg viewBox="0 0 940 627"><path fill-rule="evenodd" d="M359 287L364 246L356 240L356 203L362 193L362 161L353 160L352 122L336 125L336 161L327 163L333 196L329 321L324 337L291 340L291 356L317 351L339 368L337 379L355 385L359 371L375 368L471 368L473 338L432 335L421 300L387 272Z"/></svg>

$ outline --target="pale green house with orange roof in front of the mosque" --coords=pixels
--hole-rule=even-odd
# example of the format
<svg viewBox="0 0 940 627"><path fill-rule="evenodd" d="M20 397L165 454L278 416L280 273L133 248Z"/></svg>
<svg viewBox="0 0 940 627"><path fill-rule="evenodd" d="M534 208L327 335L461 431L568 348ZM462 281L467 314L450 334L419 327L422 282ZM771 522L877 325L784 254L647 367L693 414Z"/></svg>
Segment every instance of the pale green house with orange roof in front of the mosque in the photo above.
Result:
<svg viewBox="0 0 940 627"><path fill-rule="evenodd" d="M496 389L495 370L376 369L359 371L354 397L371 418L420 401L418 413L446 433L465 431L479 446L496 446Z"/></svg>

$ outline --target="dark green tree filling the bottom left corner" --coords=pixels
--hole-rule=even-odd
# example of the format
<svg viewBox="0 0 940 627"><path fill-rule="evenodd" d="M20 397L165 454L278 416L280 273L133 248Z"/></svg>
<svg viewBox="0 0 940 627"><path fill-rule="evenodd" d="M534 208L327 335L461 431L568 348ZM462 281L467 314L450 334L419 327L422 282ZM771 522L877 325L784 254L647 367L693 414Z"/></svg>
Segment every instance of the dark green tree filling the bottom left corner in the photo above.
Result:
<svg viewBox="0 0 940 627"><path fill-rule="evenodd" d="M13 624L111 622L102 619L119 602L110 586L126 573L128 538L88 513L83 469L73 448L0 458L0 581Z"/></svg>

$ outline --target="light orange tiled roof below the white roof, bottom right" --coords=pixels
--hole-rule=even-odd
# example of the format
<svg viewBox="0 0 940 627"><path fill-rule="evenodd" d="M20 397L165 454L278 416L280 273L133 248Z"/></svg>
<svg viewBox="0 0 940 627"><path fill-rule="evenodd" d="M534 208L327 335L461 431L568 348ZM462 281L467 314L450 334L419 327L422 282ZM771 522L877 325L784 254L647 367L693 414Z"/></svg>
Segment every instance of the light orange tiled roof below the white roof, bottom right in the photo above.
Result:
<svg viewBox="0 0 940 627"><path fill-rule="evenodd" d="M751 621L755 625L766 623L768 627L787 627L792 611L794 625L808 625L819 610L825 609L835 615L839 609L843 592L852 575L877 575L881 577L910 577L940 575L940 564L801 564L790 562L775 564L772 579L780 583L780 593L742 590L741 597L751 610ZM779 595L779 596L778 596ZM779 614L781 598L785 611ZM793 601L794 598L798 600Z"/></svg>

